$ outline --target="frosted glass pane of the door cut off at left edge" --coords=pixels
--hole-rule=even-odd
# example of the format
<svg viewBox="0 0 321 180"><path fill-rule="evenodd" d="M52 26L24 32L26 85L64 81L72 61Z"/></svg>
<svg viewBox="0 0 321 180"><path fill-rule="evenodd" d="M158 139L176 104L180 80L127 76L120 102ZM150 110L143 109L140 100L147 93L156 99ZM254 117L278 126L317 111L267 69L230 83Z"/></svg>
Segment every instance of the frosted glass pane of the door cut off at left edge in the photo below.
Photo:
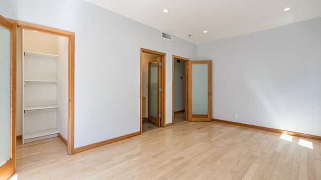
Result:
<svg viewBox="0 0 321 180"><path fill-rule="evenodd" d="M0 166L10 159L11 31L0 26Z"/></svg>

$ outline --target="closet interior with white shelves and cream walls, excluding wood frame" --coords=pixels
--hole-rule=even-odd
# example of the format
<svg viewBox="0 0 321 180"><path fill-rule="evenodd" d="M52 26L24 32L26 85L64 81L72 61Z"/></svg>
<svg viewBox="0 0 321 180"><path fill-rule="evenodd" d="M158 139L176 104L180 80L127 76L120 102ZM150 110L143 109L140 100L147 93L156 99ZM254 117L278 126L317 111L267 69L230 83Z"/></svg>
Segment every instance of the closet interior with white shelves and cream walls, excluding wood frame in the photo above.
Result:
<svg viewBox="0 0 321 180"><path fill-rule="evenodd" d="M68 136L68 38L17 30L17 135Z"/></svg>

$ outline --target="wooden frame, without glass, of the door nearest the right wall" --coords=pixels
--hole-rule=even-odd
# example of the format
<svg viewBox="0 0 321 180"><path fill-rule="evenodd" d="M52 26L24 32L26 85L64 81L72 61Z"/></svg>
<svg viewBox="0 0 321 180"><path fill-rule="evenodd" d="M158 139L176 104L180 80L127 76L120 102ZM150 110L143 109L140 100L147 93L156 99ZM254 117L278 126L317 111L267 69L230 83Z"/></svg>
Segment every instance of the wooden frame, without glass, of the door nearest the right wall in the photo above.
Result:
<svg viewBox="0 0 321 180"><path fill-rule="evenodd" d="M192 109L192 82L193 64L208 64L208 113L207 115L193 115ZM189 121L212 121L212 61L211 60L189 60L189 83L188 83L188 120Z"/></svg>

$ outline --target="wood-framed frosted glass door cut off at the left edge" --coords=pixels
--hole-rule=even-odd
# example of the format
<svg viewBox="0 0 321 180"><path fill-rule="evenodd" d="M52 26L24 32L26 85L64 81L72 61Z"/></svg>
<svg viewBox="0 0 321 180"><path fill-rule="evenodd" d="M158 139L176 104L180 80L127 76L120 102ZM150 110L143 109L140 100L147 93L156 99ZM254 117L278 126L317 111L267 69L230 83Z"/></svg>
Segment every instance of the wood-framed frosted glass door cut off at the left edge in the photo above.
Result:
<svg viewBox="0 0 321 180"><path fill-rule="evenodd" d="M16 171L16 32L0 16L0 180Z"/></svg>

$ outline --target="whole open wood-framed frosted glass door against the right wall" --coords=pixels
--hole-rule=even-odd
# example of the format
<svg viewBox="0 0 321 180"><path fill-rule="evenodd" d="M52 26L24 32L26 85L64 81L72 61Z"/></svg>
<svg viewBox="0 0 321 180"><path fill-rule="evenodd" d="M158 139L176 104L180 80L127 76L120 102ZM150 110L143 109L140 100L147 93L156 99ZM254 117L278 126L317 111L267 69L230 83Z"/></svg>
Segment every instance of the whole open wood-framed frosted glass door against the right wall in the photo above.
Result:
<svg viewBox="0 0 321 180"><path fill-rule="evenodd" d="M212 61L189 61L189 121L212 121Z"/></svg>

